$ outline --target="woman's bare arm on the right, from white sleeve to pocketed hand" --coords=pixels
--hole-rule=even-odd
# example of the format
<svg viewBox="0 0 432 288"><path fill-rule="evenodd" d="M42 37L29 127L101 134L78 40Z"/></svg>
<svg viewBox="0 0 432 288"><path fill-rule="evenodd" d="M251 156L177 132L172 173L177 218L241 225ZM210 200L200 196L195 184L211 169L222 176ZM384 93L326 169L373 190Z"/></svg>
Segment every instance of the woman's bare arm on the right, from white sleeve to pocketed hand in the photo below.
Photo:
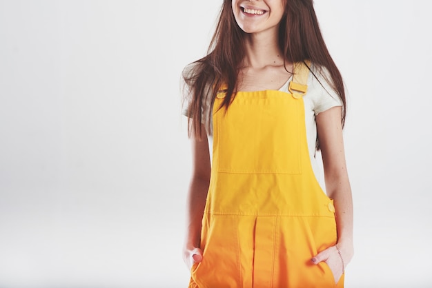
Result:
<svg viewBox="0 0 432 288"><path fill-rule="evenodd" d="M346 171L346 161L344 152L344 140L342 136L342 107L333 107L316 116L317 134L320 141L322 161L324 165L324 179L326 182L326 192L330 198L333 198L336 210L337 224L337 248L340 249L340 260L337 265L336 273L341 274L339 270L351 261L354 254L353 248L353 199L351 194L351 186ZM324 252L324 251L323 251ZM330 253L330 254L329 254ZM325 251L324 259L320 257L317 262L326 261L331 254L335 261L335 253L339 257L337 249ZM328 259L330 260L330 259ZM328 263L330 265L330 263ZM343 264L343 265L341 265ZM342 269L340 269L342 268ZM339 277L335 275L337 280Z"/></svg>

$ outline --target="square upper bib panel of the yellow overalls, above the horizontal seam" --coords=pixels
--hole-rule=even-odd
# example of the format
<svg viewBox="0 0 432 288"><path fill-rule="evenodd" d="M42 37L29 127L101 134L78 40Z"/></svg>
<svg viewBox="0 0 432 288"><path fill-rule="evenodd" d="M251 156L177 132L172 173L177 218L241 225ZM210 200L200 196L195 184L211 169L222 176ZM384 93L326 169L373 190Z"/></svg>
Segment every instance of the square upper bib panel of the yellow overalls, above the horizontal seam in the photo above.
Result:
<svg viewBox="0 0 432 288"><path fill-rule="evenodd" d="M239 94L228 110L215 112L218 172L300 174L302 99L276 91L251 94Z"/></svg>

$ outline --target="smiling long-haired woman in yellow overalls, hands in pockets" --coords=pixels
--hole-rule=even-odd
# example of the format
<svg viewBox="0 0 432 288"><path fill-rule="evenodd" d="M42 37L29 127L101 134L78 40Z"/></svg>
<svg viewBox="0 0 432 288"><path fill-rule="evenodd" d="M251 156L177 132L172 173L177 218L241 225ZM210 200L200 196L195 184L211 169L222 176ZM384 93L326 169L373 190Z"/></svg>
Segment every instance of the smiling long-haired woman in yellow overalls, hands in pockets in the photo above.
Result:
<svg viewBox="0 0 432 288"><path fill-rule="evenodd" d="M344 84L312 0L224 0L184 82L189 287L343 287L353 257Z"/></svg>

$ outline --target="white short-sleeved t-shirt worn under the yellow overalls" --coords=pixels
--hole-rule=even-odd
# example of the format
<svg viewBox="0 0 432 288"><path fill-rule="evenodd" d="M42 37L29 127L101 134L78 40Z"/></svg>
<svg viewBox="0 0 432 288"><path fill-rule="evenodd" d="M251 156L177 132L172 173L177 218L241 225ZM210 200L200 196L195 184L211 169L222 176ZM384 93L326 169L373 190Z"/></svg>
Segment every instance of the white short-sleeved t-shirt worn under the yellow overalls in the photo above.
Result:
<svg viewBox="0 0 432 288"><path fill-rule="evenodd" d="M308 143L308 152L309 156L311 158L311 165L313 172L315 174L315 178L317 178L318 183L320 183L320 186L325 191L325 185L324 185L324 178L323 173L321 169L320 163L318 163L317 158L315 158L315 147L317 143L317 124L315 122L315 116L317 114L320 114L321 112L324 112L332 107L335 106L342 106L342 100L337 95L335 90L331 88L331 85L328 85L328 82L326 79L329 79L329 77L326 77L324 75L328 75L326 70L323 68L322 71L317 71L313 65L311 67L313 74L309 74L308 76L308 91L303 96L304 101L304 110L305 110L305 123L306 123L306 140ZM288 81L282 86L282 88L279 89L279 91L282 92L288 92L288 85L291 82L291 79L288 79ZM184 99L186 99L184 103L184 107L188 107L188 89L187 87L183 88L183 96ZM289 92L288 92L289 93ZM206 115L208 115L208 109L210 109L210 99L204 103L202 109L202 119L205 119ZM229 108L228 108L229 109ZM187 109L184 109L184 115L187 115ZM209 119L210 121L210 127L212 127L212 119ZM210 155L212 154L213 150L213 134L212 132L208 132L208 145L210 148Z"/></svg>

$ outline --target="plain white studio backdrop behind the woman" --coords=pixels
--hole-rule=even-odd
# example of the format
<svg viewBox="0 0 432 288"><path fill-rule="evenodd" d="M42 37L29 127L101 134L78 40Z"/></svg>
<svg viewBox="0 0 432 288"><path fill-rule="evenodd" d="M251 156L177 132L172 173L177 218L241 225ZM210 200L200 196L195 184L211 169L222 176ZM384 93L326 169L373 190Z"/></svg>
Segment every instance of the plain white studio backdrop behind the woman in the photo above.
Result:
<svg viewBox="0 0 432 288"><path fill-rule="evenodd" d="M184 66L219 1L0 1L0 287L186 287ZM346 287L432 287L427 1L316 0L348 90Z"/></svg>

